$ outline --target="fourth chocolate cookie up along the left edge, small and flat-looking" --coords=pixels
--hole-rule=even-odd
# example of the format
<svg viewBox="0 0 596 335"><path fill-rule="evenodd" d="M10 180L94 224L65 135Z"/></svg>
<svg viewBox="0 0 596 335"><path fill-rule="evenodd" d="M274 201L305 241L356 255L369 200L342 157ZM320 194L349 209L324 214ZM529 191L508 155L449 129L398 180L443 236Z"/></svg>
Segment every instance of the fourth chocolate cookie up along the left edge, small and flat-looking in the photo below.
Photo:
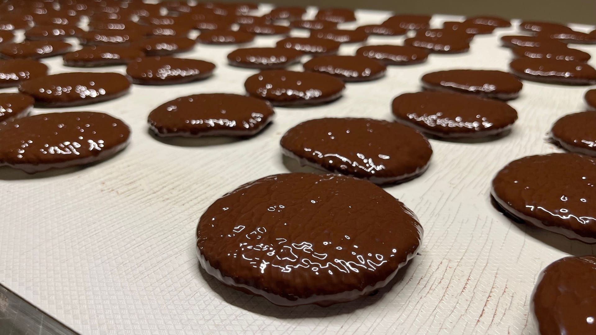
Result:
<svg viewBox="0 0 596 335"><path fill-rule="evenodd" d="M63 41L25 41L0 45L2 58L45 58L66 54L72 45Z"/></svg>

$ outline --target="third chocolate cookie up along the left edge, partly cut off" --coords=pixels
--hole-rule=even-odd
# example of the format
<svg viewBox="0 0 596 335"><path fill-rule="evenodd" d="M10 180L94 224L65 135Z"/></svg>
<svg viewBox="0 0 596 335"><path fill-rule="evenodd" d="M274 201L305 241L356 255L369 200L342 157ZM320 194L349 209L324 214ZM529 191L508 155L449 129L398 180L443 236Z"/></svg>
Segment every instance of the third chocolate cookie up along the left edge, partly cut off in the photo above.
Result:
<svg viewBox="0 0 596 335"><path fill-rule="evenodd" d="M48 66L29 59L0 60L0 88L18 86L24 80L48 74Z"/></svg>

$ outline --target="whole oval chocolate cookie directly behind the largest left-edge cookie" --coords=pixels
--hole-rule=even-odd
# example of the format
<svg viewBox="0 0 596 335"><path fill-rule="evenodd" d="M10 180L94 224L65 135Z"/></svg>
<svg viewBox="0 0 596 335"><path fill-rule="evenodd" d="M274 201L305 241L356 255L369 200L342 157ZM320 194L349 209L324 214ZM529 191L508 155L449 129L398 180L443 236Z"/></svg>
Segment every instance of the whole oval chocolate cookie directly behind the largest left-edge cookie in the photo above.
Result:
<svg viewBox="0 0 596 335"><path fill-rule="evenodd" d="M18 91L35 98L40 107L70 107L122 97L131 83L120 73L68 72L30 79Z"/></svg>

